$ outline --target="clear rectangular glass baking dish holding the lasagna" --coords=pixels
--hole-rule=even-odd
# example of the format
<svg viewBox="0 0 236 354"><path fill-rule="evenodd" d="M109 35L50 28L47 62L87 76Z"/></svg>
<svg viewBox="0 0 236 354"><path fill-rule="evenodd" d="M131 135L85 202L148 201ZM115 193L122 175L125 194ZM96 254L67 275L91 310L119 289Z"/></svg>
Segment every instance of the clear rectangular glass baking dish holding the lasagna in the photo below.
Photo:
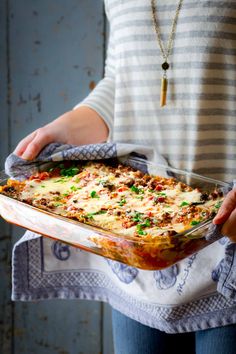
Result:
<svg viewBox="0 0 236 354"><path fill-rule="evenodd" d="M193 188L199 188L201 192L219 190L225 195L229 190L227 183L147 162L141 158L132 157L128 160L118 158L118 161L151 175L174 177ZM5 185L8 178L8 176L1 174L0 185ZM90 226L38 209L3 194L0 194L0 214L6 221L43 236L147 270L167 268L213 242L205 239L213 217L185 232L168 236L168 238L158 236L155 239L145 239L119 235Z"/></svg>

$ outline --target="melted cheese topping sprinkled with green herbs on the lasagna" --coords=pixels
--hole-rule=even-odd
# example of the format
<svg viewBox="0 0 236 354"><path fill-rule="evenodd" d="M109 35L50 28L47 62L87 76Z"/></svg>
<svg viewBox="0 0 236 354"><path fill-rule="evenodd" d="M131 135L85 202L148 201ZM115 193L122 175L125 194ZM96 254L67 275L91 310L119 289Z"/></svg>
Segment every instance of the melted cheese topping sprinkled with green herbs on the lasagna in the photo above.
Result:
<svg viewBox="0 0 236 354"><path fill-rule="evenodd" d="M146 237L179 233L208 219L222 198L120 166L88 163L73 177L24 181L20 200L106 230Z"/></svg>

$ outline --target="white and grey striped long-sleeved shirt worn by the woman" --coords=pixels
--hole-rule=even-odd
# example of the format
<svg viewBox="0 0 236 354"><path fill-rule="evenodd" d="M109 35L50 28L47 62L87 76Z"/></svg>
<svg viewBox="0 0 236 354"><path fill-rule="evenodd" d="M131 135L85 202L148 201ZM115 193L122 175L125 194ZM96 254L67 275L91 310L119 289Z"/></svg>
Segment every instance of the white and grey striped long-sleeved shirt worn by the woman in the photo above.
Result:
<svg viewBox="0 0 236 354"><path fill-rule="evenodd" d="M150 0L105 0L110 41L105 78L81 103L118 142L153 145L169 164L213 178L236 176L236 1L185 0L160 108L163 59ZM166 44L177 0L157 0Z"/></svg>

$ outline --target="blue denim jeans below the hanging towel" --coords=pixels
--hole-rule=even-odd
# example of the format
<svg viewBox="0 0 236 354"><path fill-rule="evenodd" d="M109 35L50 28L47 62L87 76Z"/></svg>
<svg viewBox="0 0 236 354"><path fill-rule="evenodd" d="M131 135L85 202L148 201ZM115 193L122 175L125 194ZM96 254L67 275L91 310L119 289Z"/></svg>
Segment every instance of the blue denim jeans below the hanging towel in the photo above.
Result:
<svg viewBox="0 0 236 354"><path fill-rule="evenodd" d="M115 354L235 354L236 324L168 334L112 310Z"/></svg>

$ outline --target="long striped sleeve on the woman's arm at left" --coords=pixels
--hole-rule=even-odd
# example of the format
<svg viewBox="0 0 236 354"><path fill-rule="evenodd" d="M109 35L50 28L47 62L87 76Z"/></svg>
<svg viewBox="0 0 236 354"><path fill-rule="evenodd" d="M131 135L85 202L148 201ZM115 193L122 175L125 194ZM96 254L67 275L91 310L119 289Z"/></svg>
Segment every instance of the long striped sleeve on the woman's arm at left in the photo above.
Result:
<svg viewBox="0 0 236 354"><path fill-rule="evenodd" d="M106 7L106 15L109 20L109 14ZM79 106L87 106L95 110L106 122L109 128L109 138L113 131L114 118L114 97L115 97L115 45L112 28L110 26L110 34L107 48L107 56L105 61L104 78L97 84L94 90L75 108Z"/></svg>

